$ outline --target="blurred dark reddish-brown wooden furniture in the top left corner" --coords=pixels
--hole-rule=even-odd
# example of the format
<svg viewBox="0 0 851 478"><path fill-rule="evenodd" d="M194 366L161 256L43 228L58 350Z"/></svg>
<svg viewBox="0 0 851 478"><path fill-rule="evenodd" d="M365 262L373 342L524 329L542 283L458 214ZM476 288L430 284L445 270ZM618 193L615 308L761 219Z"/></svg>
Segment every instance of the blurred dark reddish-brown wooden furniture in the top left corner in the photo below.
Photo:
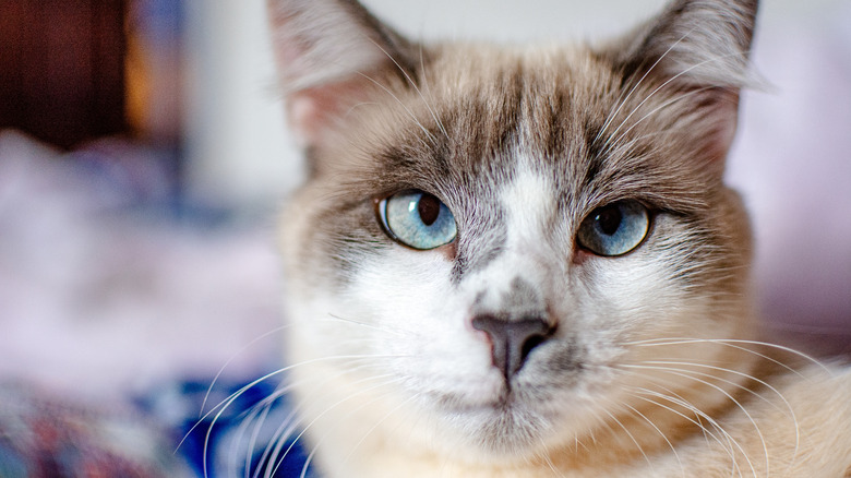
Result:
<svg viewBox="0 0 851 478"><path fill-rule="evenodd" d="M124 0L0 0L0 129L71 147L127 129Z"/></svg>

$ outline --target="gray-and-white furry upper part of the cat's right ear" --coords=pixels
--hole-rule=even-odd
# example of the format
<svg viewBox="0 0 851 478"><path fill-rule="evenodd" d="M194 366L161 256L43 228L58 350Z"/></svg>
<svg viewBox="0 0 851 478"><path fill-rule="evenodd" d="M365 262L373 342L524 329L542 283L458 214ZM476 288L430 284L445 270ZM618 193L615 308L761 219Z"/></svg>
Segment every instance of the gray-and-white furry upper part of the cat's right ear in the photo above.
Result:
<svg viewBox="0 0 851 478"><path fill-rule="evenodd" d="M681 85L738 89L748 69L757 0L674 0L615 46L625 75L645 73Z"/></svg>

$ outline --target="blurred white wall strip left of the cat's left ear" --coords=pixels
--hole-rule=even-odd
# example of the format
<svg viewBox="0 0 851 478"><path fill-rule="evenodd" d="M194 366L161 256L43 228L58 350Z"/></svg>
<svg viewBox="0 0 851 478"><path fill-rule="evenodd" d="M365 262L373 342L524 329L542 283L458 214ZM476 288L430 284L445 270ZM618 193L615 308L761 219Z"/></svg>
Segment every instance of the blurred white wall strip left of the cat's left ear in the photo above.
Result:
<svg viewBox="0 0 851 478"><path fill-rule="evenodd" d="M187 180L195 200L262 207L291 188L262 0L187 0Z"/></svg>

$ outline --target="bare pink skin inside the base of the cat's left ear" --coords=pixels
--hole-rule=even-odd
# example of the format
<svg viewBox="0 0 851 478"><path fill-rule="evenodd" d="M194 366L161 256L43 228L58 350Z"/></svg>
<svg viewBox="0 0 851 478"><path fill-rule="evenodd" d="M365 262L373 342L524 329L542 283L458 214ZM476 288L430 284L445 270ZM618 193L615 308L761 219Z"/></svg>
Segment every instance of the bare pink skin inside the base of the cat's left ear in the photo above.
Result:
<svg viewBox="0 0 851 478"><path fill-rule="evenodd" d="M302 145L317 145L328 132L343 128L351 109L367 100L369 86L369 80L356 75L290 95L288 118Z"/></svg>

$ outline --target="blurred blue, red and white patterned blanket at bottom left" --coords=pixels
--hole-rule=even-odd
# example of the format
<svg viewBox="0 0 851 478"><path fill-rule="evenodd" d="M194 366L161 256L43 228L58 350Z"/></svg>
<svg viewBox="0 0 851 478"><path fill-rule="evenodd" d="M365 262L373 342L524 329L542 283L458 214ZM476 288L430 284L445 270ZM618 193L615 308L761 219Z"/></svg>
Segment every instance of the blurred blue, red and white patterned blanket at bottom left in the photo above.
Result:
<svg viewBox="0 0 851 478"><path fill-rule="evenodd" d="M274 385L211 383L173 383L108 407L0 385L0 477L314 476Z"/></svg>

